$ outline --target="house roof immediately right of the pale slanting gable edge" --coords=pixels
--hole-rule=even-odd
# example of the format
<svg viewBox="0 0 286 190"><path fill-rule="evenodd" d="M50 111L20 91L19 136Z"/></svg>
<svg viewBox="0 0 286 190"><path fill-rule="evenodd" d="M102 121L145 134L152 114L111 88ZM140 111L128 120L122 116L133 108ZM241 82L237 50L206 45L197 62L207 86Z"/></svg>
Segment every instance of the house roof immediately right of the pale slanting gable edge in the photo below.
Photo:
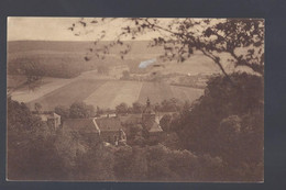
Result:
<svg viewBox="0 0 286 190"><path fill-rule="evenodd" d="M96 119L96 122L101 132L119 131L122 128L121 122L118 118L100 118Z"/></svg>

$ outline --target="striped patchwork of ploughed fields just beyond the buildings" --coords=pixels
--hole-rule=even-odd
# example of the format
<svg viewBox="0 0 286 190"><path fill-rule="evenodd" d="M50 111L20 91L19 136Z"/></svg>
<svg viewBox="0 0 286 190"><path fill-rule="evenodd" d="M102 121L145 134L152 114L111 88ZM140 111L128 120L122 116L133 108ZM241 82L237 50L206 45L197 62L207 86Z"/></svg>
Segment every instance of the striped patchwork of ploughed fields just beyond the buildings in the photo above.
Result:
<svg viewBox="0 0 286 190"><path fill-rule="evenodd" d="M147 98L152 104L172 98L191 102L204 92L201 89L162 82L77 78L64 83L62 80L64 79L61 79L57 86L54 86L54 81L33 92L22 91L20 94L16 91L12 98L25 102L32 110L36 102L42 104L43 110L54 110L56 105L69 107L76 101L84 101L95 108L114 109L122 102L130 107L136 101L144 104Z"/></svg>

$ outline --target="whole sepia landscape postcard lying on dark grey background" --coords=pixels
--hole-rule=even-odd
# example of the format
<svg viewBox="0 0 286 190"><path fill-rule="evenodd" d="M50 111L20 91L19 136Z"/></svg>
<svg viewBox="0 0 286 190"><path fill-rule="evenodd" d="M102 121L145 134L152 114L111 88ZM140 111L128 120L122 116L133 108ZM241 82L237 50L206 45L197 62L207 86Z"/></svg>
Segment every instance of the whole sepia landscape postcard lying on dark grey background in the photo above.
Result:
<svg viewBox="0 0 286 190"><path fill-rule="evenodd" d="M8 18L7 180L264 181L264 20Z"/></svg>

